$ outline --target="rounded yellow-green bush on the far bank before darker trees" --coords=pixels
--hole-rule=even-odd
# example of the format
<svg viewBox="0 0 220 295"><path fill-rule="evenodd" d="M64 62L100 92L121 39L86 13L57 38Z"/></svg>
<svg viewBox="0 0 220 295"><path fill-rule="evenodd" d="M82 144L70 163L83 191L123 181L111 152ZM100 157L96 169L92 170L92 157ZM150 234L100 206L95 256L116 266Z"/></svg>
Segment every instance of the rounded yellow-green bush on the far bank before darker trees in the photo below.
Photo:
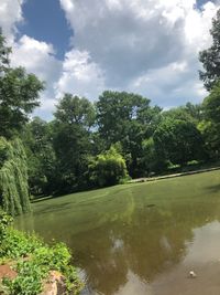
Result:
<svg viewBox="0 0 220 295"><path fill-rule="evenodd" d="M128 177L125 161L114 147L92 159L89 170L90 181L98 187L118 185Z"/></svg>

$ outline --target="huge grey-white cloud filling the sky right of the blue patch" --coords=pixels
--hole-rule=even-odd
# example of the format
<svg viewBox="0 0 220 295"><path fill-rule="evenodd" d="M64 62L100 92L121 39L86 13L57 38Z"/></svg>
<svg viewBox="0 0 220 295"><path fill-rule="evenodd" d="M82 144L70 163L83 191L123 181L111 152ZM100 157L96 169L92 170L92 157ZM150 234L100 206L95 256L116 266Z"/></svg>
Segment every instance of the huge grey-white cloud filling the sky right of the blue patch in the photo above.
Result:
<svg viewBox="0 0 220 295"><path fill-rule="evenodd" d="M106 88L139 92L163 106L199 102L198 52L211 42L218 4L196 0L59 0L73 46L105 73ZM102 80L100 80L102 82ZM96 80L97 82L97 80Z"/></svg>

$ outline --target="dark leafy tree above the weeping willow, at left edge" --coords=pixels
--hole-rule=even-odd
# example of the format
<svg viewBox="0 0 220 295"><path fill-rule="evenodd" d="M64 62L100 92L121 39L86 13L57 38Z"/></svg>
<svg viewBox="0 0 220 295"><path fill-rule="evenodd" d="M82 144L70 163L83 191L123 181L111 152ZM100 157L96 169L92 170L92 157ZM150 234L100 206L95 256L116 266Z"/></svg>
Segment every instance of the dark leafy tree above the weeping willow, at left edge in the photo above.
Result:
<svg viewBox="0 0 220 295"><path fill-rule="evenodd" d="M40 105L43 83L24 69L11 69L10 49L0 32L0 135L10 138L28 122L29 114Z"/></svg>

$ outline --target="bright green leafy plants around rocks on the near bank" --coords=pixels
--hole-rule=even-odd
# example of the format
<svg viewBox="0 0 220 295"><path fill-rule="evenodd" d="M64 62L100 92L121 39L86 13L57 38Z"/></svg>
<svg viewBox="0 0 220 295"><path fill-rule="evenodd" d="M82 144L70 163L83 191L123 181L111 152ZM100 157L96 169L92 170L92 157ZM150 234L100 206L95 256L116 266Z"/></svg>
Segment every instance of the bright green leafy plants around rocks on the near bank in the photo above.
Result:
<svg viewBox="0 0 220 295"><path fill-rule="evenodd" d="M14 280L4 278L3 294L37 295L42 292L43 282L48 278L50 271L58 271L65 277L66 294L78 294L81 283L76 270L70 265L72 255L63 243L52 246L45 244L35 235L25 234L8 228L10 218L1 213L0 260L16 262Z"/></svg>

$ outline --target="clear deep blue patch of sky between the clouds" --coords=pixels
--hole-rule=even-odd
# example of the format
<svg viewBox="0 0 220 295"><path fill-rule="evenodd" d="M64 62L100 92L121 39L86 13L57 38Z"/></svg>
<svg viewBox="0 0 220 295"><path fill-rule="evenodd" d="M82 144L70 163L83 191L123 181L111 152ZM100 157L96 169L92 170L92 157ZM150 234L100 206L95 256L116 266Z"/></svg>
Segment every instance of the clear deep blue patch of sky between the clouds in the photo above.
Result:
<svg viewBox="0 0 220 295"><path fill-rule="evenodd" d="M24 2L24 22L19 25L19 36L30 35L54 45L56 56L63 59L70 49L72 30L58 0L30 0Z"/></svg>

